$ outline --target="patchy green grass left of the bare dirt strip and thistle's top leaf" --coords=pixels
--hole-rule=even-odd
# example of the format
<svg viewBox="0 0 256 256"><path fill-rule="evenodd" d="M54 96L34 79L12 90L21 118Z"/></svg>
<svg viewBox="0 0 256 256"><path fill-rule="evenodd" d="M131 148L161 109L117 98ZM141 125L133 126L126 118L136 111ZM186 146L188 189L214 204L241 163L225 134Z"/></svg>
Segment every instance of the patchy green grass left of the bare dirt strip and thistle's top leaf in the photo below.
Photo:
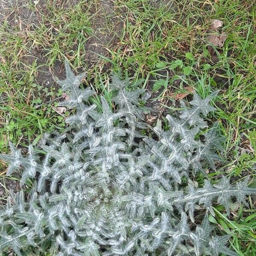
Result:
<svg viewBox="0 0 256 256"><path fill-rule="evenodd" d="M12 20L6 16L0 26L0 148L6 151L8 141L26 145L38 140L46 131L61 130L64 117L56 113L52 104L44 104L61 96L52 83L56 60L72 56L81 67L85 44L93 33L85 1L75 8L48 1L45 11L30 22L26 12L38 12L27 1L11 6ZM24 12L26 8L26 12ZM22 15L23 14L23 15ZM15 22L15 20L17 22ZM20 22L19 22L20 20ZM25 28L26 27L26 28ZM44 84L41 84L44 81ZM37 108L38 105L41 105Z"/></svg>

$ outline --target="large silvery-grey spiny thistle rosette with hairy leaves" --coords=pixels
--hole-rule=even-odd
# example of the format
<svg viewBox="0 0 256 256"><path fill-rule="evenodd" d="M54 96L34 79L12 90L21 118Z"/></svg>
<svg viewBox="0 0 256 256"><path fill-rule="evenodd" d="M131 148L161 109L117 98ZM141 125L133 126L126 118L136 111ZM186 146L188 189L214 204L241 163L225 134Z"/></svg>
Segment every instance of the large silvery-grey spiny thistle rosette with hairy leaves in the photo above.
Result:
<svg viewBox="0 0 256 256"><path fill-rule="evenodd" d="M58 81L68 90L63 103L76 113L66 121L64 134L45 134L37 149L25 157L13 145L8 175L22 172L21 183L32 178L29 195L18 192L0 211L0 251L18 255L50 247L58 256L236 255L227 249L228 237L216 236L207 212L231 198L247 204L256 189L245 179L231 185L222 177L194 187L188 178L221 160L217 125L207 127L204 115L214 108L216 95L196 93L180 116L166 116L169 130L149 129L143 121L140 97L127 80L112 77L113 102L101 98L102 111L90 104L94 91L81 90L66 61L67 77ZM200 136L199 136L200 135ZM44 151L44 155L41 152ZM38 153L40 152L40 153ZM205 217L195 222L201 207Z"/></svg>

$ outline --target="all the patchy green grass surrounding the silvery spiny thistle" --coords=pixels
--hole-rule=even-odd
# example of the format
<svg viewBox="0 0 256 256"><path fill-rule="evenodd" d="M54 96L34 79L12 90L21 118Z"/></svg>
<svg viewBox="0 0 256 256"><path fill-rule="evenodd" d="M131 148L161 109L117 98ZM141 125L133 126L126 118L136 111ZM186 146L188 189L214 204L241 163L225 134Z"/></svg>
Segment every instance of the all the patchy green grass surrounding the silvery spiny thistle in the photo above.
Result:
<svg viewBox="0 0 256 256"><path fill-rule="evenodd" d="M220 123L227 137L223 154L226 162L209 177L214 182L222 174L231 180L250 176L252 186L256 186L256 5L253 1L176 0L166 6L165 1L116 0L110 13L98 0L78 1L75 6L72 1L45 2L44 8L35 6L33 1L13 5L9 11L18 22L10 24L6 16L0 26L1 151L8 151L8 140L24 146L36 142L45 131L62 129L63 116L52 108L54 103L44 104L62 92L56 84L48 87L40 84L44 73L39 70L49 75L50 68L58 75L63 68L58 67L59 61L63 63L67 57L76 71L86 71L84 84L95 87L108 98L111 70L135 80L144 79L145 88L158 81L155 88L162 90L158 96L161 106L170 111L177 109L170 94L173 91L191 86L201 96L207 96L212 90L220 90L215 100L217 111L211 118ZM20 23L23 8L38 13L34 25ZM207 41L211 19L223 21L221 30L227 39L222 48L213 47ZM106 35L113 42L110 39L104 42ZM93 38L108 54L102 56L96 52L98 60L93 57L89 62L88 49L97 49L90 48ZM35 108L36 105L41 106ZM2 167L0 175L4 175L5 165ZM197 182L202 183L202 178L198 177ZM256 209L252 198L249 207L234 206L230 217L221 207L216 207L215 212L211 220L216 230L231 235L230 246L238 255L256 255Z"/></svg>

